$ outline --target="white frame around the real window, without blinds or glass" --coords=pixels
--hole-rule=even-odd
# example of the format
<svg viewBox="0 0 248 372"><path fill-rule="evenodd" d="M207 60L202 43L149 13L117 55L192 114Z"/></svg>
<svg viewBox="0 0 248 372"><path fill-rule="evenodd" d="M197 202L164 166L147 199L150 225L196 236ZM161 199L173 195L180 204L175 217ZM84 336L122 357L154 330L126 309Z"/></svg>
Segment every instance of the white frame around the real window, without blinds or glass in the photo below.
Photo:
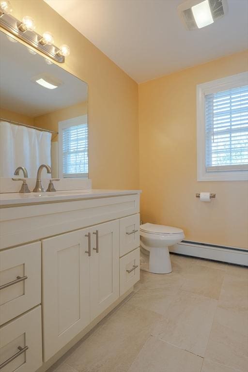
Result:
<svg viewBox="0 0 248 372"><path fill-rule="evenodd" d="M197 104L197 181L247 181L248 171L206 171L205 162L205 94L217 93L248 84L248 72L198 84ZM221 166L222 167L222 166ZM228 167L228 166L227 166Z"/></svg>

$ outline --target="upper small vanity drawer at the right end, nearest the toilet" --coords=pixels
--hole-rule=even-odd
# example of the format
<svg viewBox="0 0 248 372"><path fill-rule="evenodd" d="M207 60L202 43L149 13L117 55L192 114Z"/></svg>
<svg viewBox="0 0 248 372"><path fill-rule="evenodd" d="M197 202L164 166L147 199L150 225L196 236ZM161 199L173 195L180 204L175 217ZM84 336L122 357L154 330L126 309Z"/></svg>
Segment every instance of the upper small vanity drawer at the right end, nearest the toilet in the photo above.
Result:
<svg viewBox="0 0 248 372"><path fill-rule="evenodd" d="M120 257L140 247L140 215L120 219Z"/></svg>

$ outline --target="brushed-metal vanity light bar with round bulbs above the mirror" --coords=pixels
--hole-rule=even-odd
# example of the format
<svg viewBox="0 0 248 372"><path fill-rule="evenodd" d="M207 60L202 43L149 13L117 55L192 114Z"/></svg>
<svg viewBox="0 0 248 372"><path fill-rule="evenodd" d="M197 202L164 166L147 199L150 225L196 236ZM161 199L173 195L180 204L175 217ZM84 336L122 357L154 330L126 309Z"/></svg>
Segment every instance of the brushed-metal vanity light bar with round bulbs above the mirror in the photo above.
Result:
<svg viewBox="0 0 248 372"><path fill-rule="evenodd" d="M20 22L10 15L11 12L12 6L10 1L0 0L0 26L3 29L44 53L52 60L60 63L64 62L64 57L70 54L70 48L67 45L63 44L60 48L56 47L53 44L53 35L49 31L44 32L42 36L34 31L35 23L30 16L23 17Z"/></svg>

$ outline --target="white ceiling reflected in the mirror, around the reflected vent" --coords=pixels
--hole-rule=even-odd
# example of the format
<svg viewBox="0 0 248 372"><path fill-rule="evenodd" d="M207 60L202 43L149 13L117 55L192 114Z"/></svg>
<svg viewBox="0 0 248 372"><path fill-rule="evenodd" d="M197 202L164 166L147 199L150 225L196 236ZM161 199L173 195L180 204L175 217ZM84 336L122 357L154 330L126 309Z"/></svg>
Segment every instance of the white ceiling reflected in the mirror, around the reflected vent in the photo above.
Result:
<svg viewBox="0 0 248 372"><path fill-rule="evenodd" d="M87 84L56 64L47 65L39 54L30 54L21 43L10 42L0 32L0 106L30 117L87 100ZM50 90L31 79L49 75L62 85Z"/></svg>

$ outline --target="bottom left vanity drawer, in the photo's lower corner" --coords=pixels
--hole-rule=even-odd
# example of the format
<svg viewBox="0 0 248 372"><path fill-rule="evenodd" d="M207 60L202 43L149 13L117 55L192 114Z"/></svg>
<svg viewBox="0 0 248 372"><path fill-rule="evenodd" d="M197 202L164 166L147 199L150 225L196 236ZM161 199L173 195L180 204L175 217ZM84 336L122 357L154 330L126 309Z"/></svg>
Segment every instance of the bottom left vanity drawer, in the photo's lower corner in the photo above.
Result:
<svg viewBox="0 0 248 372"><path fill-rule="evenodd" d="M42 365L41 306L0 328L1 372L34 372Z"/></svg>

